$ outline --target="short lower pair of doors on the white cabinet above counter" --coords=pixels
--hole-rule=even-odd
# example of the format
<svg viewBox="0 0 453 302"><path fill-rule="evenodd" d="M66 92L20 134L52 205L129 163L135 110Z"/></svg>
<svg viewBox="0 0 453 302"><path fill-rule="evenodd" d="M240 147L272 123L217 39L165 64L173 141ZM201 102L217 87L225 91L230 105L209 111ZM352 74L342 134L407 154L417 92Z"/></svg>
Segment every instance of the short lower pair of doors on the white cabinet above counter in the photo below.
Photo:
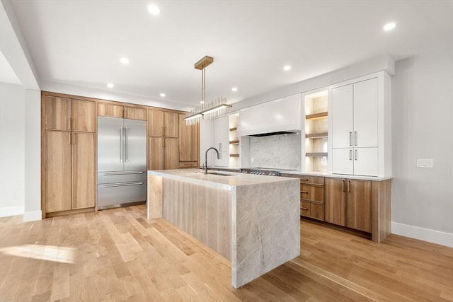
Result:
<svg viewBox="0 0 453 302"><path fill-rule="evenodd" d="M332 173L346 175L378 175L377 148L332 149Z"/></svg>

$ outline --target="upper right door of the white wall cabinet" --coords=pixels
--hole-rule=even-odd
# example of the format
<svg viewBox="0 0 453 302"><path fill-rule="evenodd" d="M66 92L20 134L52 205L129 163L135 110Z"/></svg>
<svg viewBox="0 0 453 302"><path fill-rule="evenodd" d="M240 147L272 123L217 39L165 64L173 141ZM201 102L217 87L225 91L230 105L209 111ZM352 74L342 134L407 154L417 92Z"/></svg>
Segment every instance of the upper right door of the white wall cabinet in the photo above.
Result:
<svg viewBox="0 0 453 302"><path fill-rule="evenodd" d="M377 78L354 83L354 146L377 147Z"/></svg>

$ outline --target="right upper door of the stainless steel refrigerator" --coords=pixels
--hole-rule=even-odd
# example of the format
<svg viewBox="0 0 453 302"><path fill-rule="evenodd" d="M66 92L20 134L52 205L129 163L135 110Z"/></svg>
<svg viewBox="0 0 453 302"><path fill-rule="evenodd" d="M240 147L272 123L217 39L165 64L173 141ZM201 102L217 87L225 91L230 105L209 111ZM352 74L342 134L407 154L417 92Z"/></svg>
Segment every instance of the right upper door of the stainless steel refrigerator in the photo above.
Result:
<svg viewBox="0 0 453 302"><path fill-rule="evenodd" d="M125 171L147 170L147 121L124 120Z"/></svg>

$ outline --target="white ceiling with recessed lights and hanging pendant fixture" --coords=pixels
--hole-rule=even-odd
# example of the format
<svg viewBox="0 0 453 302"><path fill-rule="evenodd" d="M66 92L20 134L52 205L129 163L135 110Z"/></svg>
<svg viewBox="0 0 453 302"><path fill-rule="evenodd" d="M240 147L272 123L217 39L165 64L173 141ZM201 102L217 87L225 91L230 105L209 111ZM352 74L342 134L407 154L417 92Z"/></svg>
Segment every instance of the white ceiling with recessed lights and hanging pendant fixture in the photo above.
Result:
<svg viewBox="0 0 453 302"><path fill-rule="evenodd" d="M252 98L389 54L452 40L453 1L13 0L39 81L199 105ZM147 11L157 4L159 16ZM395 30L384 32L389 21ZM122 66L120 57L130 64ZM283 66L290 64L290 71ZM114 88L106 88L112 82ZM236 86L234 93L231 88Z"/></svg>

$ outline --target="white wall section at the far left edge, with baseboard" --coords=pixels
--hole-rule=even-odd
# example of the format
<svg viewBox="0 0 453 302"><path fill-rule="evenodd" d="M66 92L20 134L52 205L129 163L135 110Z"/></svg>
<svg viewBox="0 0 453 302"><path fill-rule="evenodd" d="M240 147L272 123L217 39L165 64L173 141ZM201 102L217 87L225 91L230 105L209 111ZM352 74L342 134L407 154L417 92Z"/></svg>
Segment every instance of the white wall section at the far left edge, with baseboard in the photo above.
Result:
<svg viewBox="0 0 453 302"><path fill-rule="evenodd" d="M0 216L21 215L25 201L25 89L0 83Z"/></svg>

